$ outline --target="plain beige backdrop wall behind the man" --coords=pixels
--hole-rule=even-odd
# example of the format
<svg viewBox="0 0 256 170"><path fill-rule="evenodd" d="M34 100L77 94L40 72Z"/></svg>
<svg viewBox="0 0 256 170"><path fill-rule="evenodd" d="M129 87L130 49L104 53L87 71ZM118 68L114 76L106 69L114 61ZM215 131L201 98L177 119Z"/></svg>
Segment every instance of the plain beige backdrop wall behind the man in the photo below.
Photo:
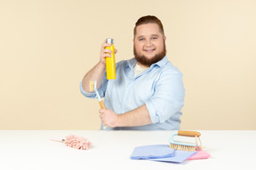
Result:
<svg viewBox="0 0 256 170"><path fill-rule="evenodd" d="M164 24L184 74L182 129L256 130L256 1L0 0L0 129L99 129L97 100L79 83L115 39L132 58L143 15Z"/></svg>

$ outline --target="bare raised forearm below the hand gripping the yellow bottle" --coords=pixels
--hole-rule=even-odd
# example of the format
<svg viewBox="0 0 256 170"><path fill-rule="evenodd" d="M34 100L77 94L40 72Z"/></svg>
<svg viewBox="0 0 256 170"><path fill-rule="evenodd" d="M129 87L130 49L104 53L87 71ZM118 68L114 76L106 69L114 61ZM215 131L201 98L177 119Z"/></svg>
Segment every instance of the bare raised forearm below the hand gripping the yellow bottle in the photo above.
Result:
<svg viewBox="0 0 256 170"><path fill-rule="evenodd" d="M90 92L90 81L97 81L97 88L99 89L105 70L105 64L99 62L96 66L92 68L92 70L86 73L82 81L82 87L84 91Z"/></svg>

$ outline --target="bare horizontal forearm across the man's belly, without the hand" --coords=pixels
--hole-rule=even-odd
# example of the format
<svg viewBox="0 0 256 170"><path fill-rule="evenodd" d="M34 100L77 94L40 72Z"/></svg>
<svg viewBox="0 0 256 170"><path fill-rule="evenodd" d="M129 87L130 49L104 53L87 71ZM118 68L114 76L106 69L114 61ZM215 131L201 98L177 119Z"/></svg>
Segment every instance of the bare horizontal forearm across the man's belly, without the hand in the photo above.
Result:
<svg viewBox="0 0 256 170"><path fill-rule="evenodd" d="M152 123L146 104L130 112L118 115L117 122L118 127L136 127Z"/></svg>

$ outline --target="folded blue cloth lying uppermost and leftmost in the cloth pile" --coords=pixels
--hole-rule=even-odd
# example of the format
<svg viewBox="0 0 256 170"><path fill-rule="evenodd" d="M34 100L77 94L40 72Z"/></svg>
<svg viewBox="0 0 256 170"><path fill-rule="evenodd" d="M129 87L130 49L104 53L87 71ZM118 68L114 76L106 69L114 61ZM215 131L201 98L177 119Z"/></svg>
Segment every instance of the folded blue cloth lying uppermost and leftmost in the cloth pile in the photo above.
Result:
<svg viewBox="0 0 256 170"><path fill-rule="evenodd" d="M174 150L166 144L139 146L132 152L132 159L167 158L173 157Z"/></svg>

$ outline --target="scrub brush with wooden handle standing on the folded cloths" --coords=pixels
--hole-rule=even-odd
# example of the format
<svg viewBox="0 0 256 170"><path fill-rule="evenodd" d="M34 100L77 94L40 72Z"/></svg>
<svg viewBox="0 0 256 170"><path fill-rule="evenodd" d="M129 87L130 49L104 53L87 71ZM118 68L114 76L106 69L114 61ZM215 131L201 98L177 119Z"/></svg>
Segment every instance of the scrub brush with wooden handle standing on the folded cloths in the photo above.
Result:
<svg viewBox="0 0 256 170"><path fill-rule="evenodd" d="M174 141L174 136L176 135L182 135L182 136L188 136L188 137L195 137L196 143L185 143L185 142L180 142L180 141ZM200 132L196 131L175 131L170 137L170 148L174 150L180 150L180 151L197 151L202 148L202 143L199 138L201 135ZM199 144L197 143L197 139L199 140Z"/></svg>

